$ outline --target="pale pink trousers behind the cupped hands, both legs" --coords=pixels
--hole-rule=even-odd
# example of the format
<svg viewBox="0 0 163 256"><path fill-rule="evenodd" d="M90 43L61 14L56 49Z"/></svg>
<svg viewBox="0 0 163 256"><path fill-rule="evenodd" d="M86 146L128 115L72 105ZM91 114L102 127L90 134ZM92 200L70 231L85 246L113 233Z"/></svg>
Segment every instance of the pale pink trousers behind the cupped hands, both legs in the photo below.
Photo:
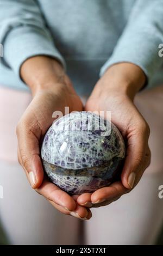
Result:
<svg viewBox="0 0 163 256"><path fill-rule="evenodd" d="M151 165L140 183L116 202L93 209L90 221L64 216L30 188L17 162L15 128L31 96L0 88L0 221L13 245L152 245L163 222L163 87L137 94L151 128ZM84 240L83 240L84 239Z"/></svg>

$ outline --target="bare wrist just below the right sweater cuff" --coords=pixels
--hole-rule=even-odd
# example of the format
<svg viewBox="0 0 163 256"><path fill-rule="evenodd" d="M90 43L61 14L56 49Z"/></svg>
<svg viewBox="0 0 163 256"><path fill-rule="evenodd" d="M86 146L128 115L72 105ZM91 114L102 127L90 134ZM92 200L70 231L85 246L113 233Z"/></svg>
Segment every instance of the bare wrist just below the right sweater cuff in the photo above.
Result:
<svg viewBox="0 0 163 256"><path fill-rule="evenodd" d="M131 99L146 82L146 76L139 66L132 63L112 65L101 78L104 89L126 94Z"/></svg>

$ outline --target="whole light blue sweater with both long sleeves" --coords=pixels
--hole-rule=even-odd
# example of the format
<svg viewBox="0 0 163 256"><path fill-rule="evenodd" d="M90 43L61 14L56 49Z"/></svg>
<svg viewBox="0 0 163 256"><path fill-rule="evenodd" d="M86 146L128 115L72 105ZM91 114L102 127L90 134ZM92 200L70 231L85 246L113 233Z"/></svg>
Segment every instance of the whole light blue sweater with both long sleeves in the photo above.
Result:
<svg viewBox="0 0 163 256"><path fill-rule="evenodd" d="M119 62L163 83L162 42L163 0L0 0L2 86L27 90L20 66L37 54L59 59L79 94Z"/></svg>

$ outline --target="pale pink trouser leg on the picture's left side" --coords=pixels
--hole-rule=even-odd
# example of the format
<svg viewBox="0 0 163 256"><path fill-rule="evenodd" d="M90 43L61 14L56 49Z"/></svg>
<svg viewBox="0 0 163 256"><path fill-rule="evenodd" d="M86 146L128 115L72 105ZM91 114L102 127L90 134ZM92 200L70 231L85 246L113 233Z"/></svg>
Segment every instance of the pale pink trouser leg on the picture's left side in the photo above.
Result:
<svg viewBox="0 0 163 256"><path fill-rule="evenodd" d="M79 221L60 214L32 190L17 163L15 127L30 100L28 93L0 88L1 222L14 245L78 244Z"/></svg>

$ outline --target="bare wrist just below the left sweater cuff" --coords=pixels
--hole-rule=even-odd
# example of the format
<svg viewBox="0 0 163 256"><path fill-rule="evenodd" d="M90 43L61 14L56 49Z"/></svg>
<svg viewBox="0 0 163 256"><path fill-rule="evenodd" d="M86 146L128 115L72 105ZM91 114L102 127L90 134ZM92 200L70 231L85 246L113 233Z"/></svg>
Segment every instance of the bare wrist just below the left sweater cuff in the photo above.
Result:
<svg viewBox="0 0 163 256"><path fill-rule="evenodd" d="M34 95L40 90L53 87L54 83L64 81L65 71L58 60L47 56L36 56L22 64L20 74Z"/></svg>

